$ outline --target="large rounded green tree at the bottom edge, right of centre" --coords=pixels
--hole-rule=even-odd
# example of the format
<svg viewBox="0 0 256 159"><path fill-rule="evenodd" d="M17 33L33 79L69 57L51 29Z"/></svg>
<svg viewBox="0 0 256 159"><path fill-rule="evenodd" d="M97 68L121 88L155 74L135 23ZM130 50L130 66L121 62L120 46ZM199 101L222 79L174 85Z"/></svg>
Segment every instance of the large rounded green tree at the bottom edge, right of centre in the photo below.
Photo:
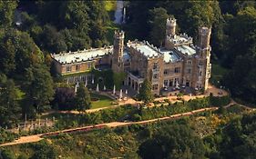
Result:
<svg viewBox="0 0 256 159"><path fill-rule="evenodd" d="M200 138L186 124L171 124L161 127L139 145L141 158L192 159L204 158L205 149Z"/></svg>

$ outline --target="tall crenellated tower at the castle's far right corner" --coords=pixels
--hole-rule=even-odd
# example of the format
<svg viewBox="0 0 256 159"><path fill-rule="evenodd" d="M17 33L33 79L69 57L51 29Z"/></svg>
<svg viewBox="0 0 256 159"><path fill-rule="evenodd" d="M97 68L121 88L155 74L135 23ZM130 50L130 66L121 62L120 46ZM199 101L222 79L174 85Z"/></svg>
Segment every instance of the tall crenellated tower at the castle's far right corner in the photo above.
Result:
<svg viewBox="0 0 256 159"><path fill-rule="evenodd" d="M208 83L211 73L210 64L210 34L211 27L200 27L199 28L199 43L197 45L197 64L198 64L198 80L197 87L208 88Z"/></svg>

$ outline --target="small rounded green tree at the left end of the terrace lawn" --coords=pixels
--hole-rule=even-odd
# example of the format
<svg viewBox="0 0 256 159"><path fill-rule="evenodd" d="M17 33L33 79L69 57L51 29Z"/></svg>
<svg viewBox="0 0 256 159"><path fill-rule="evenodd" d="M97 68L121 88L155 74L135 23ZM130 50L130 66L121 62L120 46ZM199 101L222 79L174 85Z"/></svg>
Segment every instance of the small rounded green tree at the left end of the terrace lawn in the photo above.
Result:
<svg viewBox="0 0 256 159"><path fill-rule="evenodd" d="M77 111L83 112L91 107L91 97L87 87L79 86L75 97Z"/></svg>

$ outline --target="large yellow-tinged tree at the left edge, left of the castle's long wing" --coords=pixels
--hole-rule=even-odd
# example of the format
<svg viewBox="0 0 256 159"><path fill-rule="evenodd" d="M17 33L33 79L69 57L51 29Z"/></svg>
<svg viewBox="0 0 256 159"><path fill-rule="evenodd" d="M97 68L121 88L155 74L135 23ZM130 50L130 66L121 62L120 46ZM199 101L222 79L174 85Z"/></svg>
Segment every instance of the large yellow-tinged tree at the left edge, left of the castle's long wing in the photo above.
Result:
<svg viewBox="0 0 256 159"><path fill-rule="evenodd" d="M44 61L44 55L25 32L9 28L0 43L0 66L6 75L24 74L26 68Z"/></svg>

